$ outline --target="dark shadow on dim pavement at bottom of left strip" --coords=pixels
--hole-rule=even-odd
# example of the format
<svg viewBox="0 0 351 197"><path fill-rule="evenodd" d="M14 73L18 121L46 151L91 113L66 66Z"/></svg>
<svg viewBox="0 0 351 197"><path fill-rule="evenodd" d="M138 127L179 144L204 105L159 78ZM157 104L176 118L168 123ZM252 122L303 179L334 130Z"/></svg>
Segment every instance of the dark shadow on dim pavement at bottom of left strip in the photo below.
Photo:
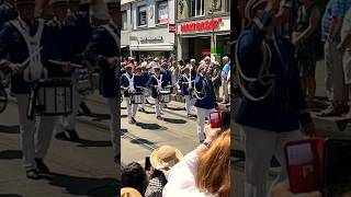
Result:
<svg viewBox="0 0 351 197"><path fill-rule="evenodd" d="M116 178L92 178L52 173L44 176L49 185L63 187L70 195L90 197L113 197L118 194L120 183Z"/></svg>

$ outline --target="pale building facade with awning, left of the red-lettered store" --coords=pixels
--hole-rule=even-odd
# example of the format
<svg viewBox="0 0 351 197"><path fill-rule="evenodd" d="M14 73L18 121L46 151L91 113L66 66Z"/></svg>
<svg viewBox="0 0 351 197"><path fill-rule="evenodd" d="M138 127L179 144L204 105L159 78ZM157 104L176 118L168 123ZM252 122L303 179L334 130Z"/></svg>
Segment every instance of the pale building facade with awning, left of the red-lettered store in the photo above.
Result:
<svg viewBox="0 0 351 197"><path fill-rule="evenodd" d="M137 60L152 56L168 58L174 54L174 0L123 0L122 51Z"/></svg>

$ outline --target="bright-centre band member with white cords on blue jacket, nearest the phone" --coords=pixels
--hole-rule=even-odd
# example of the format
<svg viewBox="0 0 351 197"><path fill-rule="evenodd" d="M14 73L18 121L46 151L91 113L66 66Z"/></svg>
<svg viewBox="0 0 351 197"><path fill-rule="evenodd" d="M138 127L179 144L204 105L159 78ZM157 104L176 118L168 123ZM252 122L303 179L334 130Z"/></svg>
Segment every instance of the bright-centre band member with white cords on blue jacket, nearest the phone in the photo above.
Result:
<svg viewBox="0 0 351 197"><path fill-rule="evenodd" d="M210 78L210 66L206 63L201 65L197 72L195 78L195 107L197 111L197 137L202 143L205 140L205 119L210 117L210 113L215 109L217 104L213 82Z"/></svg>

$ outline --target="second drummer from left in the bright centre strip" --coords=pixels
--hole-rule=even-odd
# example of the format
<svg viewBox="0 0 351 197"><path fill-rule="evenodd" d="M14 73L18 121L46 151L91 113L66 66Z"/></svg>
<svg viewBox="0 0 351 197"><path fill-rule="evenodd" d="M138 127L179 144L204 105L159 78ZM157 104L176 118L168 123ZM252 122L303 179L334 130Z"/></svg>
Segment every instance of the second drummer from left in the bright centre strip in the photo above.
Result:
<svg viewBox="0 0 351 197"><path fill-rule="evenodd" d="M149 85L152 91L151 96L155 100L156 117L161 120L161 111L165 107L165 103L159 101L159 93L161 90L170 88L171 85L169 84L168 78L161 73L161 67L156 61L151 61L150 63L154 68L155 74L151 77Z"/></svg>

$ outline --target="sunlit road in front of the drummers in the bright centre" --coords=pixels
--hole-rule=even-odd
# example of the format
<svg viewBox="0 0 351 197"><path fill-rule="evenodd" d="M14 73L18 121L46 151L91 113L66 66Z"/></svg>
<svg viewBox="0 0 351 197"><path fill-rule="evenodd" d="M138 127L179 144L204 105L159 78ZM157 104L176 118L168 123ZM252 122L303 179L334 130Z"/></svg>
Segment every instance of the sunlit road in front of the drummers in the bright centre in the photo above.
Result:
<svg viewBox="0 0 351 197"><path fill-rule="evenodd" d="M149 100L151 102L151 99ZM199 144L196 119L185 117L183 105L172 102L163 111L165 119L158 120L154 105L147 105L147 113L138 112L135 125L127 123L125 102L122 103L122 163L139 162L144 165L145 157L163 144L177 147L183 154Z"/></svg>

